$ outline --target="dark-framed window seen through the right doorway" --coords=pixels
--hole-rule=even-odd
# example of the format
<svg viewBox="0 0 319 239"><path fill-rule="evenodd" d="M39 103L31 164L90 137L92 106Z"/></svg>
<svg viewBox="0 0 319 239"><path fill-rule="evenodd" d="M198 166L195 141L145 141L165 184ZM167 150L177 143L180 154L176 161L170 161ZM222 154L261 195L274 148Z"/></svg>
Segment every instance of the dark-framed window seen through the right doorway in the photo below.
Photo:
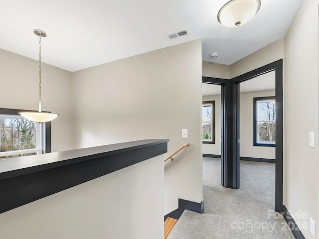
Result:
<svg viewBox="0 0 319 239"><path fill-rule="evenodd" d="M254 146L276 146L276 98L254 98Z"/></svg>

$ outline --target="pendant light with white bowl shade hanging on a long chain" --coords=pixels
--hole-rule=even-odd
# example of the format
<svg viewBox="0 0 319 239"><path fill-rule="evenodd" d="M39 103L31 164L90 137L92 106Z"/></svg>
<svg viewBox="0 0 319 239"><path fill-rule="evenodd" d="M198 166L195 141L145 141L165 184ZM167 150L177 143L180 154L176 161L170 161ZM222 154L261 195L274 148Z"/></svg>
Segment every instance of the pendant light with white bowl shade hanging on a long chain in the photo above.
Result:
<svg viewBox="0 0 319 239"><path fill-rule="evenodd" d="M58 114L41 111L41 37L46 37L46 33L42 30L34 29L34 34L39 36L39 111L19 112L23 118L34 122L47 122L57 118Z"/></svg>

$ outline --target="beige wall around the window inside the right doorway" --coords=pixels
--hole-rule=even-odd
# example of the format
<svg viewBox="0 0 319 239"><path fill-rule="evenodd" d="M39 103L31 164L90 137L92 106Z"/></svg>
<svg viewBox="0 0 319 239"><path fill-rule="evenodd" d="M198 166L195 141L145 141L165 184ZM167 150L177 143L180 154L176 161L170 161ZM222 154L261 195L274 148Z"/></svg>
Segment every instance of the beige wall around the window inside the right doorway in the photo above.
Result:
<svg viewBox="0 0 319 239"><path fill-rule="evenodd" d="M276 158L275 147L254 146L254 97L275 96L275 90L240 93L240 156Z"/></svg>

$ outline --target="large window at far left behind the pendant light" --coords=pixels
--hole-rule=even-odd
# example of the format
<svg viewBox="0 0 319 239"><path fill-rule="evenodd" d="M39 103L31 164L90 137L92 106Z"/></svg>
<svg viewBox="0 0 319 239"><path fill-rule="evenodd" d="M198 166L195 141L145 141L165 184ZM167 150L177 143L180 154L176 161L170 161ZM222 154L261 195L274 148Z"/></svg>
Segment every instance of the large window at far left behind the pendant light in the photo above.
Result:
<svg viewBox="0 0 319 239"><path fill-rule="evenodd" d="M18 112L0 108L0 159L50 152L50 122L41 125Z"/></svg>

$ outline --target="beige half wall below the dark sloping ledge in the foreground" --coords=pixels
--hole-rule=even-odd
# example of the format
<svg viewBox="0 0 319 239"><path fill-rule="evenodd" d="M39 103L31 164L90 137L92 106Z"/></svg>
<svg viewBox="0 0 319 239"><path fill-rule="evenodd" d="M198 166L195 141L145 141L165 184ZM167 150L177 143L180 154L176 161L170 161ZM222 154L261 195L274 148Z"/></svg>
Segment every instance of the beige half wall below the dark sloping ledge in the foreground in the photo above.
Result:
<svg viewBox="0 0 319 239"><path fill-rule="evenodd" d="M159 155L1 213L0 238L162 239L163 161Z"/></svg>

